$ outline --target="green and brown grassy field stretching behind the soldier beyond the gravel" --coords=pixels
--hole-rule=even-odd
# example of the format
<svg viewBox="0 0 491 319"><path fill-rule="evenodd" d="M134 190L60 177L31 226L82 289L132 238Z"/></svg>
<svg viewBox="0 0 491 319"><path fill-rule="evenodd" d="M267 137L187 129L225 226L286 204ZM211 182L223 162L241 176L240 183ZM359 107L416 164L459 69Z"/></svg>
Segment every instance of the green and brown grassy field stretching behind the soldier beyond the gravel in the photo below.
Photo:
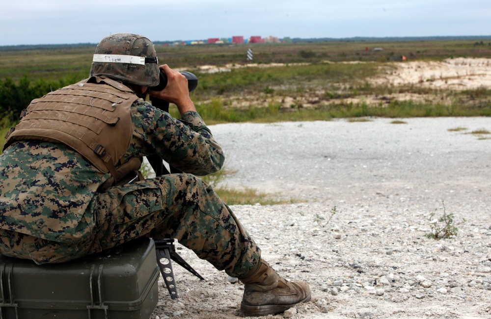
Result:
<svg viewBox="0 0 491 319"><path fill-rule="evenodd" d="M196 69L205 64L245 65L249 47L254 51L257 66L212 74ZM365 51L365 47L369 50ZM374 52L371 50L374 47L384 50ZM192 98L211 124L367 116L491 116L491 95L486 87L445 91L409 84L374 85L369 81L393 68L385 62L394 55L405 55L409 61L487 57L490 47L488 41L476 45L472 40L328 41L251 46L156 45L156 50L163 63L188 69L198 76L198 88ZM94 46L0 50L0 112L13 110L17 114L30 100L86 78L93 51ZM354 61L370 63L344 63ZM285 66L261 67L266 63ZM406 93L432 95L435 102L398 102L386 98ZM364 100L367 95L385 99L379 104L368 103ZM293 102L286 105L288 99Z"/></svg>

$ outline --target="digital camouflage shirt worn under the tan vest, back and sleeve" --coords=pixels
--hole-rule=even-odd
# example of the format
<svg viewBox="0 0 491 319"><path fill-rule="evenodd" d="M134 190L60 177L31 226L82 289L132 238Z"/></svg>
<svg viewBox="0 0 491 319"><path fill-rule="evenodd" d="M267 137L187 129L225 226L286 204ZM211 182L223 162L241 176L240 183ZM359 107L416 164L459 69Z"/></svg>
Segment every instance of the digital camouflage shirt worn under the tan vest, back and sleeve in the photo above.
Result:
<svg viewBox="0 0 491 319"><path fill-rule="evenodd" d="M223 152L198 113L186 112L178 120L142 99L131 111L135 131L124 161L158 154L200 176L223 165ZM64 144L39 140L10 145L0 156L0 172L0 228L63 242L90 236L92 199L109 173Z"/></svg>

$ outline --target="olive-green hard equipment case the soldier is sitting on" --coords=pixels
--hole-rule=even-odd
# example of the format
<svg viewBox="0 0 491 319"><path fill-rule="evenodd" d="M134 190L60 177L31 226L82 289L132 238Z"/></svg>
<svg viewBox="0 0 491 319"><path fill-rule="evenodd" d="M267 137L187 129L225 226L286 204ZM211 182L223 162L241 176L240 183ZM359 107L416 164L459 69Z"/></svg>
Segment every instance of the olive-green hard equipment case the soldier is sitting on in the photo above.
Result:
<svg viewBox="0 0 491 319"><path fill-rule="evenodd" d="M159 267L152 239L62 264L0 257L0 319L148 319Z"/></svg>

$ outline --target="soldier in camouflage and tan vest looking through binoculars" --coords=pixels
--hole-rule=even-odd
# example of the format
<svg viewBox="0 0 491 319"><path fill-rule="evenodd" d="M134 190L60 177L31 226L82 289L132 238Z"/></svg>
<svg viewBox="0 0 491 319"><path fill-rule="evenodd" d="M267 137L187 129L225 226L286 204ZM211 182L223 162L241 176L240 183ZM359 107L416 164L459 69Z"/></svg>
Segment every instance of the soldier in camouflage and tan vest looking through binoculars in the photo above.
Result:
<svg viewBox="0 0 491 319"><path fill-rule="evenodd" d="M168 83L151 91L160 70ZM181 120L145 102L147 94L175 104ZM307 283L280 277L229 207L192 175L218 171L223 152L186 78L158 65L147 38L104 38L89 79L33 100L6 137L1 254L61 263L138 237L175 238L245 284L245 316L310 300ZM142 157L153 154L185 173L143 179Z"/></svg>

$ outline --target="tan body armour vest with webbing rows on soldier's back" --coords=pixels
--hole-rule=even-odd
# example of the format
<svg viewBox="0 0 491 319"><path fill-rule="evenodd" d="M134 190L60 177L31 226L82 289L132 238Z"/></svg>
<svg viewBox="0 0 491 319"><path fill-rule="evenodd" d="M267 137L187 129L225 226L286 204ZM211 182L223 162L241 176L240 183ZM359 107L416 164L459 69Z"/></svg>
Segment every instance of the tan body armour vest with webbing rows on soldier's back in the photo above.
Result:
<svg viewBox="0 0 491 319"><path fill-rule="evenodd" d="M130 107L137 99L130 88L106 78L65 86L23 110L19 124L5 135L3 149L24 139L66 144L101 172L111 173L113 178L102 187L107 188L141 165L141 159L134 158L115 168L130 147L134 131Z"/></svg>

